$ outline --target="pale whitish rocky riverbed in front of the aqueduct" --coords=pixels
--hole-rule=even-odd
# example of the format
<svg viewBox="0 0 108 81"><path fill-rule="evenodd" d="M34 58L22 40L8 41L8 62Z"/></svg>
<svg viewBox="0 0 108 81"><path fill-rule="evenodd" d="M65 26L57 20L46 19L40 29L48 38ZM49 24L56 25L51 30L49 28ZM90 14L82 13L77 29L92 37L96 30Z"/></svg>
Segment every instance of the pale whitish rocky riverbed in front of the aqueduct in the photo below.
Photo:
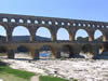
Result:
<svg viewBox="0 0 108 81"><path fill-rule="evenodd" d="M23 57L26 57L23 59ZM16 59L6 59L14 69L23 69L39 75L50 75L65 79L75 78L78 81L108 81L108 60L93 60L83 58L27 60L25 54L16 54Z"/></svg>

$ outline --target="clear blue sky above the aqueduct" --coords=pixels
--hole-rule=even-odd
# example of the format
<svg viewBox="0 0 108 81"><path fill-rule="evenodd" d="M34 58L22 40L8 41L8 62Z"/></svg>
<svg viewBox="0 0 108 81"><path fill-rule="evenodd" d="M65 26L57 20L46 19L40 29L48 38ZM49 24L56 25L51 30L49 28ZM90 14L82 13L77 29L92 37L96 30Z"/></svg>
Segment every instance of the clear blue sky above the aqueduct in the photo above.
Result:
<svg viewBox="0 0 108 81"><path fill-rule="evenodd" d="M1 0L0 13L108 22L108 0Z"/></svg>

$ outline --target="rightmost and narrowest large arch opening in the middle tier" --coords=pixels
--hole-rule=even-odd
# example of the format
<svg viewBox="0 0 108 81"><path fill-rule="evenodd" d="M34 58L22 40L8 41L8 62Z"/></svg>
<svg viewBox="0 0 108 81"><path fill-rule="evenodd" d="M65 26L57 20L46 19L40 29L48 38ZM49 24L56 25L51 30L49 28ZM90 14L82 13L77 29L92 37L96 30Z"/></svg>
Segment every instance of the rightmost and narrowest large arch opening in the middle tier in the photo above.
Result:
<svg viewBox="0 0 108 81"><path fill-rule="evenodd" d="M94 31L94 40L95 41L106 41L106 36L100 29L96 29Z"/></svg>

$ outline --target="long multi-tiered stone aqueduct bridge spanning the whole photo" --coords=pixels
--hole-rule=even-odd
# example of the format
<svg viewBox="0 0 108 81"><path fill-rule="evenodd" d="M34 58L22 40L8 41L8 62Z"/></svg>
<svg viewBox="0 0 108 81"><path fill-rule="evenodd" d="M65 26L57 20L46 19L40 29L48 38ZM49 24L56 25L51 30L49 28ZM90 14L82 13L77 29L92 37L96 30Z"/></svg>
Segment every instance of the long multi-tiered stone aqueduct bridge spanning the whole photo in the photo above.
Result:
<svg viewBox="0 0 108 81"><path fill-rule="evenodd" d="M28 48L33 59L39 58L39 49L43 45L50 46L53 57L60 57L62 51L69 51L71 57L73 54L79 54L85 44L91 44L92 49L94 49L93 53L97 53L97 50L103 45L103 42L108 39L108 23L105 22L0 14L0 25L6 30L6 41L1 41L0 46L6 48L9 58L14 58L14 52L19 45ZM17 26L24 26L29 30L29 42L12 41L13 29ZM51 31L51 41L37 41L37 39L35 39L36 31L39 27L46 27ZM69 32L69 41L56 40L56 33L59 28L67 29ZM87 42L75 41L75 36L78 29L84 29L87 32ZM94 41L94 32L96 29L99 29L103 32L103 42Z"/></svg>

